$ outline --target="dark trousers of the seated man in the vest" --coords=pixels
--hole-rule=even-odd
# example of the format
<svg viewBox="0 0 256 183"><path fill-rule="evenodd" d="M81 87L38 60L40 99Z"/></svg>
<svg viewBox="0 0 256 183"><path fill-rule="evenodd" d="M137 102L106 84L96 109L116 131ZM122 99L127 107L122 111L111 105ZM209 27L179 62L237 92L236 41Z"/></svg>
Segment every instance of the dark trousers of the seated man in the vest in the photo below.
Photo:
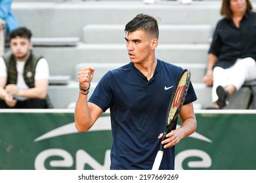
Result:
<svg viewBox="0 0 256 183"><path fill-rule="evenodd" d="M9 107L5 101L0 100L0 108L47 108L47 105L45 99L28 99L26 101L17 101L14 107Z"/></svg>

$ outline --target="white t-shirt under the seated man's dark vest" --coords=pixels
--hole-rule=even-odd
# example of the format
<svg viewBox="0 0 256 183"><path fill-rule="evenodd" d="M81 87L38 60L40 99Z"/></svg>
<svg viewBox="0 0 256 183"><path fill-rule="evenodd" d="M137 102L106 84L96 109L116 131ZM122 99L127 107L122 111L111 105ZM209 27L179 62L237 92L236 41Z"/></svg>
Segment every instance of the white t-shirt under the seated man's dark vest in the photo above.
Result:
<svg viewBox="0 0 256 183"><path fill-rule="evenodd" d="M16 68L18 71L18 78L17 78L17 88L18 89L28 89L23 73L24 73L24 66L25 61L16 61ZM37 66L35 67L35 80L40 79L49 79L49 65L45 58L39 59ZM3 58L0 58L0 77L7 77L7 67L5 65L5 61ZM18 100L24 100L24 97L16 97Z"/></svg>

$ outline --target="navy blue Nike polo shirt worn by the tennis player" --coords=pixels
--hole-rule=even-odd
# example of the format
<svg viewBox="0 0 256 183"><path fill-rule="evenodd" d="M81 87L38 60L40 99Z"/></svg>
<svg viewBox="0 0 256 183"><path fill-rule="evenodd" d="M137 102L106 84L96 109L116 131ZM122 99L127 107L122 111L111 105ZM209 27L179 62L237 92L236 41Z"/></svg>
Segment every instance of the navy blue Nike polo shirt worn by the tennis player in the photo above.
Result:
<svg viewBox="0 0 256 183"><path fill-rule="evenodd" d="M158 59L154 76L146 76L129 63L108 71L89 102L110 108L113 145L110 169L152 169L160 148L173 88L183 69ZM169 90L165 90L169 88ZM190 83L184 105L196 101ZM175 126L176 127L176 126ZM174 169L175 147L165 150L160 169Z"/></svg>

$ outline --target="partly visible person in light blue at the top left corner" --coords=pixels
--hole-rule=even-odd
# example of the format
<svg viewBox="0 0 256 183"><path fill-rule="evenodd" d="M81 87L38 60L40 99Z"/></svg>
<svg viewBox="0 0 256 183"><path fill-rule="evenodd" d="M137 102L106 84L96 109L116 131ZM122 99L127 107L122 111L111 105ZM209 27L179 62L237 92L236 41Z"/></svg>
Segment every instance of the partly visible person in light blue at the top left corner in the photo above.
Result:
<svg viewBox="0 0 256 183"><path fill-rule="evenodd" d="M0 0L0 56L5 52L5 34L18 28L18 21L11 12L12 0Z"/></svg>

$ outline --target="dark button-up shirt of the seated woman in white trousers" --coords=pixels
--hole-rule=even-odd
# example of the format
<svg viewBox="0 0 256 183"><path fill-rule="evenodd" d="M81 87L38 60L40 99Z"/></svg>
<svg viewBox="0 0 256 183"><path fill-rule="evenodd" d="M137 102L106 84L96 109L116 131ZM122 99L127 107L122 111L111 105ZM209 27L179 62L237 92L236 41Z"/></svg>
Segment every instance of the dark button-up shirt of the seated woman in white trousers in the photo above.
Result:
<svg viewBox="0 0 256 183"><path fill-rule="evenodd" d="M218 58L215 67L224 69L232 66L238 58L251 57L256 61L256 13L246 12L239 28L232 19L219 20L209 53Z"/></svg>

